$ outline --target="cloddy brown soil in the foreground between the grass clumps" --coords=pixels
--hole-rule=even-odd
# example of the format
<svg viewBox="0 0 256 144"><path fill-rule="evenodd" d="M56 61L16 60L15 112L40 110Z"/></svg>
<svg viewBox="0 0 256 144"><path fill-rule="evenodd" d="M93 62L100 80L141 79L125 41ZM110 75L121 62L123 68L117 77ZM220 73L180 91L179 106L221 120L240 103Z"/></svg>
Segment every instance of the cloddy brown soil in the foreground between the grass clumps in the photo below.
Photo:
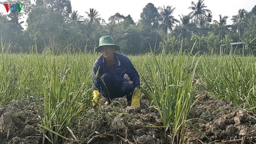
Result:
<svg viewBox="0 0 256 144"><path fill-rule="evenodd" d="M208 97L205 93L198 93L196 97L199 99L188 119L192 119L193 125L210 140L185 125L183 143L256 143L256 113L234 107L232 102ZM125 98L114 99L113 105L83 112L72 131L81 143L167 143L162 128L143 127L161 125L159 113L150 107L150 103L143 94L140 107L127 107ZM1 144L42 143L42 133L38 128L40 119L32 101L15 101L12 105L0 106L0 117ZM69 138L73 139L71 135Z"/></svg>

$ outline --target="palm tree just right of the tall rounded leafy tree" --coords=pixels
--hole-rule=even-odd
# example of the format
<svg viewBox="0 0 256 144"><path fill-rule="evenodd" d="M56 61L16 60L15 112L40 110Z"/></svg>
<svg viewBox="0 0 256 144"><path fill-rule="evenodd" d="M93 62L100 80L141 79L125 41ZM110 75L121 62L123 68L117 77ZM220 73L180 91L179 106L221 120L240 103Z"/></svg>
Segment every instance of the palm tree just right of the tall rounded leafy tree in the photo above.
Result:
<svg viewBox="0 0 256 144"><path fill-rule="evenodd" d="M172 6L166 6L166 8L163 6L163 8L159 7L158 9L160 10L159 27L163 30L165 40L168 30L173 31L174 24L179 23L179 21L173 17L175 8L172 9Z"/></svg>

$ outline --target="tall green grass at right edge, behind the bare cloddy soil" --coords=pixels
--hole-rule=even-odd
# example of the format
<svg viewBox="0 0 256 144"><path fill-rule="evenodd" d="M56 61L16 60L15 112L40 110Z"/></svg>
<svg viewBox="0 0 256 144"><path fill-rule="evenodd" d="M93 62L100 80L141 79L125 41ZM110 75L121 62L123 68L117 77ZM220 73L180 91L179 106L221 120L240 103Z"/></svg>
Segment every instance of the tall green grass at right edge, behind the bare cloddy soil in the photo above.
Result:
<svg viewBox="0 0 256 144"><path fill-rule="evenodd" d="M203 56L197 72L211 95L256 111L255 60L254 56Z"/></svg>

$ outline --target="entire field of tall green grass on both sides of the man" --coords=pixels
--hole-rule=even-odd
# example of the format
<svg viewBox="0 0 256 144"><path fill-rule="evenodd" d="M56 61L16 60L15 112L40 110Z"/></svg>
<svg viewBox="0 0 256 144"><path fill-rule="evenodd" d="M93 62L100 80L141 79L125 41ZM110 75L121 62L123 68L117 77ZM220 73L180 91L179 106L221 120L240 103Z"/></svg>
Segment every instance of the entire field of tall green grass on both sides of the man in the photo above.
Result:
<svg viewBox="0 0 256 144"><path fill-rule="evenodd" d="M3 45L3 44L1 44ZM3 47L3 46L2 46ZM35 47L34 47L35 48ZM0 105L16 99L34 99L43 143L62 143L67 137L81 141L72 127L91 106L91 79L99 55L10 54L0 56ZM161 116L171 143L181 143L183 125L194 102L194 74L210 95L256 111L256 58L189 54L129 56L142 79L142 91ZM189 122L188 122L189 123Z"/></svg>

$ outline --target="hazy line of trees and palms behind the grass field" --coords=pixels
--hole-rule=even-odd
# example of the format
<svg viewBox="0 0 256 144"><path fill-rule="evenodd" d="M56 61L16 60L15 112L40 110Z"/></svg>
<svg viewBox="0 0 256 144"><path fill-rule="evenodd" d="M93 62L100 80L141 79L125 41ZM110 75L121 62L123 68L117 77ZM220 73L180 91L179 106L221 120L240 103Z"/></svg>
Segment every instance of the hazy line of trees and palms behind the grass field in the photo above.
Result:
<svg viewBox="0 0 256 144"><path fill-rule="evenodd" d="M98 45L99 37L110 35L120 45L125 54L148 51L178 51L219 53L224 45L226 52L232 42L245 42L247 54L255 54L256 49L256 6L248 12L238 10L232 16L232 25L227 25L226 15L213 20L211 10L203 0L192 1L191 13L173 16L175 8L156 8L147 3L134 22L130 15L116 13L106 22L100 13L90 8L86 16L72 10L70 0L30 0L5 1L3 3L24 3L21 13L0 13L1 49L10 52L30 53L35 45L40 53L51 51L90 52ZM26 19L26 29L21 24ZM241 47L241 46L240 46Z"/></svg>

